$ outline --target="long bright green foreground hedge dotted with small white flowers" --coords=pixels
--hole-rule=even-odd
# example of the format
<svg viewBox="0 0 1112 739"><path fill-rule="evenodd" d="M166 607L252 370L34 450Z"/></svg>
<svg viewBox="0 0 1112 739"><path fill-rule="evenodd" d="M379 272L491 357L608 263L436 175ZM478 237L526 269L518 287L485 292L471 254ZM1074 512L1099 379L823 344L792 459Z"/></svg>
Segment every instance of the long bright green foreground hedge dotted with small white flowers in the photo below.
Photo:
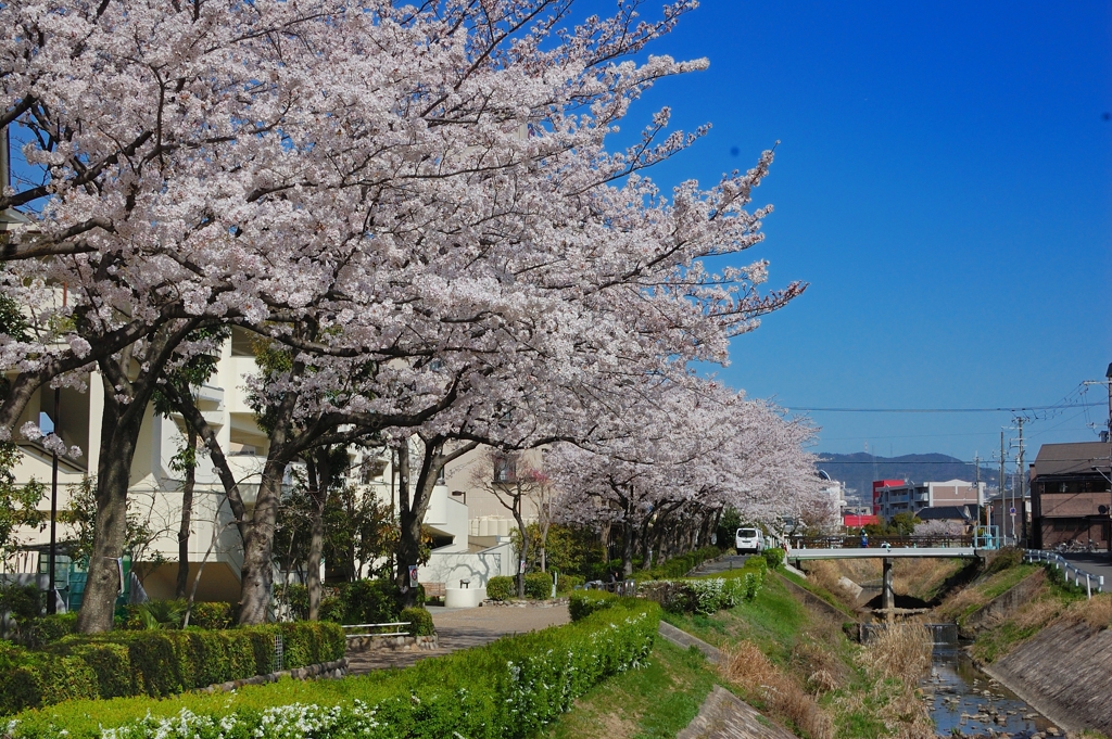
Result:
<svg viewBox="0 0 1112 739"><path fill-rule="evenodd" d="M73 702L16 717L16 739L524 739L644 663L659 608L620 599L576 623L341 680L284 680L162 702ZM626 602L629 601L629 602ZM63 735L64 731L64 735Z"/></svg>

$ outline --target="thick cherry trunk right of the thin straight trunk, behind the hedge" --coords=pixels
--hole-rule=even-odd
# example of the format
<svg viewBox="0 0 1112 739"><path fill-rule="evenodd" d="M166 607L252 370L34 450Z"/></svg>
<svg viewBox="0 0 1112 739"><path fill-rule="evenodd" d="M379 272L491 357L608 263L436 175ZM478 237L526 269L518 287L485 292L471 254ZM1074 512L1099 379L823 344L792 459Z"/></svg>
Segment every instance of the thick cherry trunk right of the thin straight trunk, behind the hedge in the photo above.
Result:
<svg viewBox="0 0 1112 739"><path fill-rule="evenodd" d="M276 432L278 435L279 432ZM285 441L282 439L281 441ZM271 452L281 443L271 437ZM251 525L244 540L244 569L239 593L239 623L257 626L267 622L274 590L274 540L281 500L281 481L286 462L271 456L262 467L262 480L255 499Z"/></svg>

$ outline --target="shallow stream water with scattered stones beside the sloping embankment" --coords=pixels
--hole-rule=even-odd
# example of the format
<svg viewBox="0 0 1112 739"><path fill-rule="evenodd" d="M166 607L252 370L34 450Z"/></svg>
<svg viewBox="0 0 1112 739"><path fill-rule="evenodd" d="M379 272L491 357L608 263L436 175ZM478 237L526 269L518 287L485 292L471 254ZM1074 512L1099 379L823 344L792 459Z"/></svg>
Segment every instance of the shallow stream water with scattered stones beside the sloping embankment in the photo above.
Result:
<svg viewBox="0 0 1112 739"><path fill-rule="evenodd" d="M936 625L934 632L931 671L922 688L940 737L1037 739L1062 735L1052 721L979 670L951 625Z"/></svg>

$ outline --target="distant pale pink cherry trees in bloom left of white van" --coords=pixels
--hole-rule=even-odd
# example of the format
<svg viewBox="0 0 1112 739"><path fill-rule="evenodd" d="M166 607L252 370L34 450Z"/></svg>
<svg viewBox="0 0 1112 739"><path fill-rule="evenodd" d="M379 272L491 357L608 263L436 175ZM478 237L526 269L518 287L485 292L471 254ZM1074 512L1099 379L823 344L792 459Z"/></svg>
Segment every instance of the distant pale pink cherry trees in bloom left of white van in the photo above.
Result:
<svg viewBox="0 0 1112 739"><path fill-rule="evenodd" d="M817 491L813 459L802 449L813 430L767 403L693 378L646 380L631 397L610 438L560 445L546 460L563 491L564 520L623 530L625 575L635 542L647 550L654 525L657 540L677 520L697 540L726 506L745 520L774 521Z"/></svg>

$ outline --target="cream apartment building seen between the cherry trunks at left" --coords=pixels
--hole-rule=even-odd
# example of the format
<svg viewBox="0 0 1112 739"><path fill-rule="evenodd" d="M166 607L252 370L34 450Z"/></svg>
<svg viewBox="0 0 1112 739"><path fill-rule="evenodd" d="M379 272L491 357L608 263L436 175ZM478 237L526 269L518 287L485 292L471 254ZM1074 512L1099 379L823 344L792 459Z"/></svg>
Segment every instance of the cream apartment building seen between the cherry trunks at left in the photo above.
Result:
<svg viewBox="0 0 1112 739"><path fill-rule="evenodd" d="M247 332L236 330L225 344L216 373L196 390L199 409L216 430L217 438L228 458L245 503L255 502L264 461L268 451L267 436L255 422L248 403L245 377L256 371L251 340ZM71 491L88 475L97 470L103 386L97 373L87 378L88 389L60 391L56 432L67 447L77 446L80 457L62 457L58 466L58 508L69 507ZM17 428L31 421L40 423L40 413L53 417L54 391L40 389L28 403ZM173 470L171 459L185 443L185 426L179 417L163 418L147 409L142 432L131 466L129 500L132 515L139 516L157 532L146 552L137 555L132 563L142 590L155 599L172 598L178 569L177 532L181 517L181 475ZM20 440L22 460L16 468L17 480L34 478L49 487L51 456L38 442ZM364 465L364 457L373 456ZM349 483L361 486L366 495L375 495L384 502L397 505L397 490L390 456L374 450L353 448ZM374 470L366 475L366 470ZM291 472L292 470L290 470ZM288 472L291 482L292 477ZM224 486L212 465L199 457L196 469L192 526L189 538L190 583L201 571L198 581L199 600L235 601L239 595L239 576L242 566L242 542L234 526ZM468 501L469 502L469 501ZM49 497L40 508L49 510ZM465 497L449 495L447 485L437 485L425 518L425 526L441 546L433 552L429 563L421 568L423 582L443 582L455 586L459 580L470 580L473 587L483 587L489 577L513 571L513 551L508 537L469 539L468 510ZM64 542L72 531L58 527L58 541ZM19 533L22 549L2 562L4 573L19 579L37 579L40 587L48 587L46 575L49 529L23 530ZM165 560L156 565L156 555ZM203 569L201 570L201 563ZM79 598L80 565L59 557L56 568L56 587L62 602ZM284 573L276 573L285 577ZM135 580L131 580L135 582Z"/></svg>

